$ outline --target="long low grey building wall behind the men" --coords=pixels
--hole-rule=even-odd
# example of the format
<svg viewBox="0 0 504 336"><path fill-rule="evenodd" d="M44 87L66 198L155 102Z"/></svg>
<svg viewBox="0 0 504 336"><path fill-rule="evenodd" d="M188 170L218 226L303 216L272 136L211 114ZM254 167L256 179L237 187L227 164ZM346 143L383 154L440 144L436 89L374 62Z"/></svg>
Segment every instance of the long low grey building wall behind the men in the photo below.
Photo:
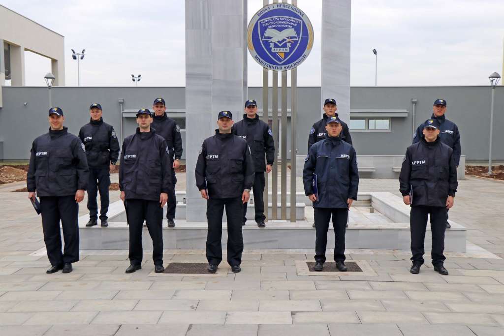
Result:
<svg viewBox="0 0 504 336"><path fill-rule="evenodd" d="M43 87L4 87L4 107L0 108L0 159L23 160L29 157L33 139L46 132L48 94ZM493 159L504 160L504 87L497 87L494 107ZM124 110L151 107L154 98L161 96L168 109L185 109L183 87L55 87L52 101L65 111L66 123L72 133L89 121L89 105L103 106L104 120L120 134L118 99L124 99ZM290 92L287 92L290 105ZM298 88L296 139L298 154L306 154L308 132L313 122L320 119L320 87ZM490 123L489 87L353 87L351 109L403 109L407 117L392 118L390 132L352 131L352 139L359 155L403 155L411 143L411 98L417 98L415 125L429 118L436 98L448 101L447 117L459 126L462 152L467 160L488 159ZM262 105L261 88L248 88L248 97ZM338 99L338 97L333 97ZM271 102L271 92L270 99ZM24 103L27 103L25 106ZM136 127L134 117L125 118L125 135ZM208 135L210 136L210 135ZM290 138L290 131L288 132ZM3 143L2 143L3 142ZM2 148L3 144L3 148ZM290 143L287 144L290 148ZM3 153L3 157L1 154ZM185 155L185 147L184 147ZM290 157L290 155L289 155Z"/></svg>

